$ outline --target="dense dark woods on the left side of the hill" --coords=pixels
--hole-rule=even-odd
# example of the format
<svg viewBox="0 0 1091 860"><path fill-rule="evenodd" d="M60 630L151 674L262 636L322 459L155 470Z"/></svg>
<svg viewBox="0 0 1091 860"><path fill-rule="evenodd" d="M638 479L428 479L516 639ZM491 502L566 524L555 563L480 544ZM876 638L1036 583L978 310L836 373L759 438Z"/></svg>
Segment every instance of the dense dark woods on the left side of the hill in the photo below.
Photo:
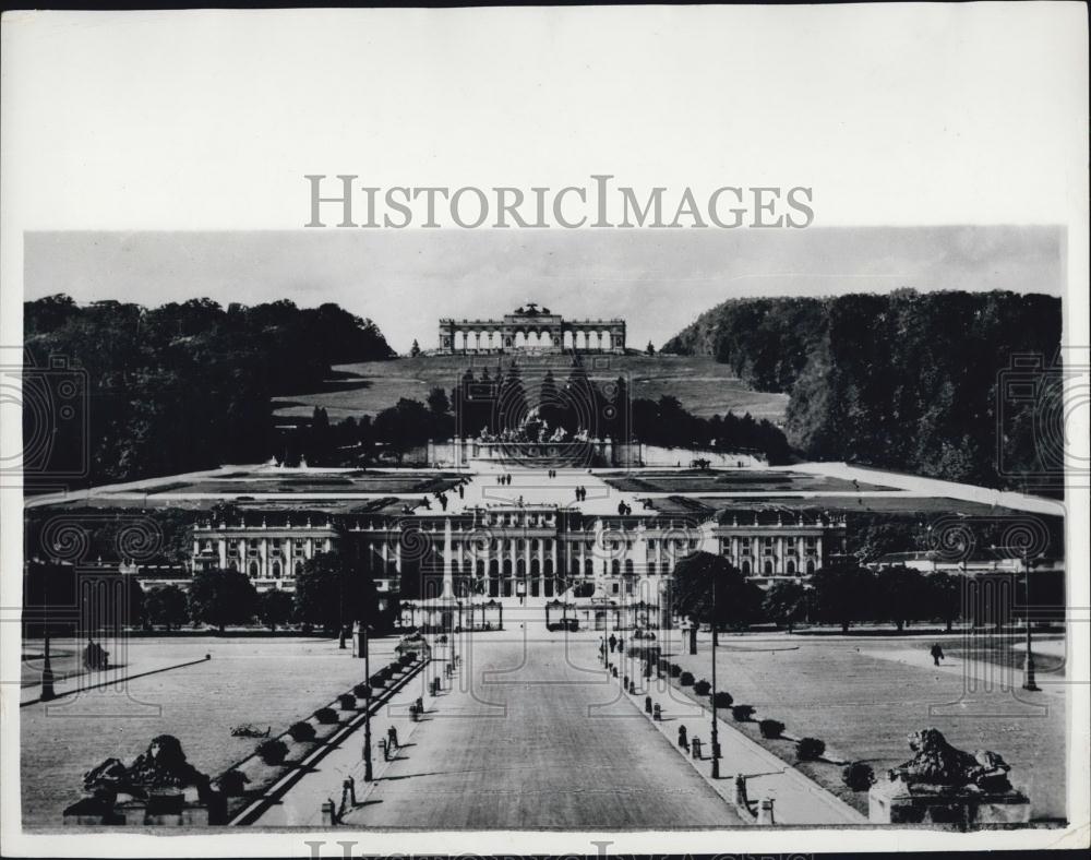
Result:
<svg viewBox="0 0 1091 860"><path fill-rule="evenodd" d="M373 322L336 304L81 306L58 294L24 302L23 314L24 377L48 379L55 356L82 371L87 425L71 432L85 438L53 447L86 444L93 483L265 459L273 396L313 390L334 363L394 355ZM28 438L40 420L24 409Z"/></svg>

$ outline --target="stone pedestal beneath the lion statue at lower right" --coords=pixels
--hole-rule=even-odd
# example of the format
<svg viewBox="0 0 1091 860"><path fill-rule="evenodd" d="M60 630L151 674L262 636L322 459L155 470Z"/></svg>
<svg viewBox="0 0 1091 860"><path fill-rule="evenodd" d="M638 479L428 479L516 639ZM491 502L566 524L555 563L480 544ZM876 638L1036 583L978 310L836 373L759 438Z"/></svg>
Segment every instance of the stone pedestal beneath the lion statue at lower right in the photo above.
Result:
<svg viewBox="0 0 1091 860"><path fill-rule="evenodd" d="M873 824L971 831L1030 821L1030 800L1015 789L987 792L967 786L944 790L890 779L872 786L867 807L867 819Z"/></svg>

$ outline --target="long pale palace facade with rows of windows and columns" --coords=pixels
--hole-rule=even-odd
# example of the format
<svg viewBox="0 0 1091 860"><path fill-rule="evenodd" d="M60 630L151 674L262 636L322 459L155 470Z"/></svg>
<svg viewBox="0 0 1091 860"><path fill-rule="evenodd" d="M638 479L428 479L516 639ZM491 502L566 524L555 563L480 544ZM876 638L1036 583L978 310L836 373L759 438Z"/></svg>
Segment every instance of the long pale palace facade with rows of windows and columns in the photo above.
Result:
<svg viewBox="0 0 1091 860"><path fill-rule="evenodd" d="M843 515L787 509L589 515L503 504L458 514L272 515L241 511L193 530L193 570L247 573L259 590L295 589L309 559L347 551L381 596L633 601L664 593L674 565L717 552L759 586L805 581L844 552ZM419 580L407 581L407 577Z"/></svg>

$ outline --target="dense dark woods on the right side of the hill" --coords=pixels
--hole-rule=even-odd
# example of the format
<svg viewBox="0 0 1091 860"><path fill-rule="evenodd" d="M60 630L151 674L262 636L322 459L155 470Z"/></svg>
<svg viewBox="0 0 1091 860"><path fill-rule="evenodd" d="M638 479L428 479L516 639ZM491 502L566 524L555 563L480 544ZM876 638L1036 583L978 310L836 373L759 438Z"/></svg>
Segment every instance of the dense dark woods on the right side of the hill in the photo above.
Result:
<svg viewBox="0 0 1091 860"><path fill-rule="evenodd" d="M787 392L788 441L808 458L1019 488L1062 468L1060 325L1060 300L1034 294L735 299L662 351ZM1016 370L1031 383L1017 392L1006 380L1029 355L1043 369Z"/></svg>

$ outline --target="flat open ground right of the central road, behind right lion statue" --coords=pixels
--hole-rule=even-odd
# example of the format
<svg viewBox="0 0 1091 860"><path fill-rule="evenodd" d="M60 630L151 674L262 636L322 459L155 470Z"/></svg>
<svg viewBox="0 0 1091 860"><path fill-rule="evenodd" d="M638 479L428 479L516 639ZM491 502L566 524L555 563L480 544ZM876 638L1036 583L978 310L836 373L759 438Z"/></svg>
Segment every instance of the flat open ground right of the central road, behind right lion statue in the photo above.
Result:
<svg viewBox="0 0 1091 860"><path fill-rule="evenodd" d="M674 636L672 662L710 677L710 641L703 634L691 656ZM961 637L938 640L946 661L961 660ZM1011 766L1011 780L1031 799L1034 819L1065 815L1065 700L1056 693L1018 690L1009 684L967 683L960 672L932 667L932 640L836 637L814 641L762 634L721 635L717 684L735 704L756 708L754 719L779 719L794 737L826 742L831 757L864 761L876 775L912 757L907 736L935 727L959 749L988 749ZM993 643L995 644L995 643ZM909 653L912 662L898 661ZM1054 664L1055 666L1056 664ZM1045 667L1048 668L1048 667ZM1054 686L1054 690L1057 688ZM690 691L692 693L692 691ZM1018 693L1018 697L1016 696ZM707 705L708 700L698 700ZM1030 703L1030 704L1027 704ZM1038 705L1045 705L1044 708ZM723 715L731 719L730 713ZM795 764L794 743L764 740L757 722L732 722L786 762ZM702 731L704 737L707 732ZM726 762L728 773L731 764ZM841 781L841 766L826 762L798 765L807 776L866 814L866 792Z"/></svg>

